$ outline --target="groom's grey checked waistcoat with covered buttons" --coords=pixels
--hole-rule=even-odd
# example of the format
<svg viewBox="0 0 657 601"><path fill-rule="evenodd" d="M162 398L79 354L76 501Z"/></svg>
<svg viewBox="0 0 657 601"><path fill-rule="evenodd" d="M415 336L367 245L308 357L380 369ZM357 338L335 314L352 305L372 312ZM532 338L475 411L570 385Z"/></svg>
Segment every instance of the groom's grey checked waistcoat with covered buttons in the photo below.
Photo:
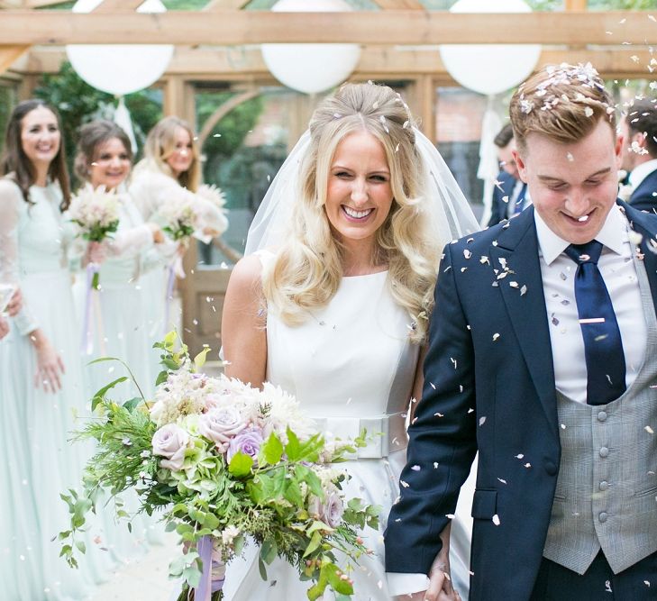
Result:
<svg viewBox="0 0 657 601"><path fill-rule="evenodd" d="M600 548L616 574L657 551L657 319L634 265L648 334L634 383L607 405L557 391L561 465L543 556L578 574Z"/></svg>

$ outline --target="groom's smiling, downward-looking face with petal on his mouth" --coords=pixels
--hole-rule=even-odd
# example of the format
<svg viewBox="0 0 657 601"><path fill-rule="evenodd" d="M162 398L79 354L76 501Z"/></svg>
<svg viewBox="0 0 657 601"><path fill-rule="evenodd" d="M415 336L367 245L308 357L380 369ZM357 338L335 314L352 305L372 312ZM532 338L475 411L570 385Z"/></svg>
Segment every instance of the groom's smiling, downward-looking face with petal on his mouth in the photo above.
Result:
<svg viewBox="0 0 657 601"><path fill-rule="evenodd" d="M622 140L609 123L574 143L541 133L525 138L524 156L516 151L521 178L535 210L552 232L571 244L593 240L616 202Z"/></svg>

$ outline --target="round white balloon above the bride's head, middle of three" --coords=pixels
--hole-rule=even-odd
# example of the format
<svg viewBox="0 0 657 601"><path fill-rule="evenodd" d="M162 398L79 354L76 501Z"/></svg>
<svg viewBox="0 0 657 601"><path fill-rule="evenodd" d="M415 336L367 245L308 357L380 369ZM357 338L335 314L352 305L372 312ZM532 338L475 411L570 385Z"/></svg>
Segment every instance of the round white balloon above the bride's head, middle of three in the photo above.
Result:
<svg viewBox="0 0 657 601"><path fill-rule="evenodd" d="M352 8L343 0L279 0L271 10L329 13ZM261 49L271 74L285 86L306 94L341 84L360 60L358 44L262 44Z"/></svg>

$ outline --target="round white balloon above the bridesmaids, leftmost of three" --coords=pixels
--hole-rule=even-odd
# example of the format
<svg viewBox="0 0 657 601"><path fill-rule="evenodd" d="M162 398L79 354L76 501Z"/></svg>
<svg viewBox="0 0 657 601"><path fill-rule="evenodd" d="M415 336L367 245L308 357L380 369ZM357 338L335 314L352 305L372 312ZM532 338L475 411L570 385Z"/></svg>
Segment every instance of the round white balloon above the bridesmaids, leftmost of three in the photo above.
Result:
<svg viewBox="0 0 657 601"><path fill-rule="evenodd" d="M74 13L90 13L101 0L78 0ZM164 13L160 0L146 0L138 13ZM68 60L87 84L123 96L149 87L160 79L173 56L169 44L72 44Z"/></svg>

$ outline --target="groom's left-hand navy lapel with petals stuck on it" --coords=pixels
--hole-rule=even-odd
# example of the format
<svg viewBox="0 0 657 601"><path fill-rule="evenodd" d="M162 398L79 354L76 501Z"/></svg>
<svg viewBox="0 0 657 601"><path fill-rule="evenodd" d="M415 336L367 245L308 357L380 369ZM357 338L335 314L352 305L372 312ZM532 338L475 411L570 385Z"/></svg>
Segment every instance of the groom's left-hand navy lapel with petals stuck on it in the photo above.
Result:
<svg viewBox="0 0 657 601"><path fill-rule="evenodd" d="M495 261L493 267L499 269L500 274L504 265L510 270L505 278L497 280L498 286L543 411L553 433L559 436L552 342L545 309L534 207L512 219L500 232L497 246L490 249L490 256ZM510 286L510 282L516 282L517 287Z"/></svg>

